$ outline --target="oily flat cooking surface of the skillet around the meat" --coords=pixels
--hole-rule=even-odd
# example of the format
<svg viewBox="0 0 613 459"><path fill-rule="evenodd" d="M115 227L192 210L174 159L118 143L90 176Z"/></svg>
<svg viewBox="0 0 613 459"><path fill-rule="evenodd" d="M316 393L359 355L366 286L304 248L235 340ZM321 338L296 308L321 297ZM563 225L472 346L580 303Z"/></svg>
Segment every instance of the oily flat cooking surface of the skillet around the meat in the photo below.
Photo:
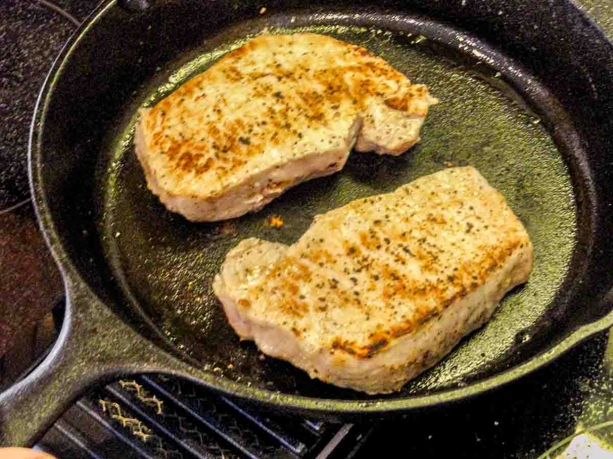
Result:
<svg viewBox="0 0 613 459"><path fill-rule="evenodd" d="M297 26L306 21L299 19ZM256 214L189 223L167 212L147 190L132 148L134 113L126 114L116 149L99 169L105 187L102 239L115 275L169 340L197 360L215 362L205 366L219 375L286 393L364 398L311 381L286 362L262 356L253 343L240 343L213 295L213 276L227 251L245 237L290 244L316 214L451 165L473 165L524 222L536 249L535 268L530 282L506 296L487 326L403 392L454 387L505 368L509 356L530 345L532 334L547 333L543 318L568 274L576 245L577 209L563 155L529 104L505 83L504 71L469 57L469 47L451 50L419 34L377 26L302 24L270 32L308 31L363 45L412 81L427 84L441 102L428 114L422 141L400 157L354 153L340 173L299 185ZM140 103L151 105L169 94L264 25L262 20L242 26L242 35L229 34L232 41L219 37L212 40L215 49L194 50L160 69L143 88ZM268 226L272 215L281 215L285 225Z"/></svg>

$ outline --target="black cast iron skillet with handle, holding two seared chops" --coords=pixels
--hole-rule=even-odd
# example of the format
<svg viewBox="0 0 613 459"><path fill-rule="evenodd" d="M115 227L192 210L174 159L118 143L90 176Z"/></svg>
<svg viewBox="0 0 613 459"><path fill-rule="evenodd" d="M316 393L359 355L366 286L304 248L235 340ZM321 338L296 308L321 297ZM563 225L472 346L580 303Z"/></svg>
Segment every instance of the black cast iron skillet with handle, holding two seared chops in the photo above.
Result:
<svg viewBox="0 0 613 459"><path fill-rule="evenodd" d="M40 93L30 151L66 318L47 360L0 396L4 444L31 444L91 384L139 372L311 416L402 414L513 381L611 326L613 47L600 29L564 1L301 3L168 0L132 11L106 1L70 39ZM134 113L265 26L365 45L441 104L402 157L354 154L262 212L186 222L147 190ZM487 326L384 397L312 381L238 341L210 288L230 247L247 236L295 241L313 215L449 163L476 166L500 189L536 247L530 282ZM273 214L283 228L266 225Z"/></svg>

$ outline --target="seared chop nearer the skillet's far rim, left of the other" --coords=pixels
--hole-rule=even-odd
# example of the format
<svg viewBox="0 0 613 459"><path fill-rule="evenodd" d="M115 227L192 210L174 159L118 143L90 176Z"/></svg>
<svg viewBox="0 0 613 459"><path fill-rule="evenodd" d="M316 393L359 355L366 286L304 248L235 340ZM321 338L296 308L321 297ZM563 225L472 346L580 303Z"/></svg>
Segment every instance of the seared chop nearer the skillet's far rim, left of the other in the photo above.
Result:
<svg viewBox="0 0 613 459"><path fill-rule="evenodd" d="M354 146L401 154L433 103L423 84L365 48L261 35L140 110L136 152L168 209L224 220L340 170Z"/></svg>

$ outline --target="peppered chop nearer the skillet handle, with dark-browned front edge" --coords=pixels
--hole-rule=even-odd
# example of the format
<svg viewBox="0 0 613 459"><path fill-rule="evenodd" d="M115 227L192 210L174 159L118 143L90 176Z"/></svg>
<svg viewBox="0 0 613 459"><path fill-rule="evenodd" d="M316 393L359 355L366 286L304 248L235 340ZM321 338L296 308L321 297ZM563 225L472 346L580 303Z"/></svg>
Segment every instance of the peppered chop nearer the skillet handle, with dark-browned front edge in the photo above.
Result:
<svg viewBox="0 0 613 459"><path fill-rule="evenodd" d="M246 239L213 289L262 352L368 394L399 390L528 279L533 248L472 167L318 215L293 245Z"/></svg>

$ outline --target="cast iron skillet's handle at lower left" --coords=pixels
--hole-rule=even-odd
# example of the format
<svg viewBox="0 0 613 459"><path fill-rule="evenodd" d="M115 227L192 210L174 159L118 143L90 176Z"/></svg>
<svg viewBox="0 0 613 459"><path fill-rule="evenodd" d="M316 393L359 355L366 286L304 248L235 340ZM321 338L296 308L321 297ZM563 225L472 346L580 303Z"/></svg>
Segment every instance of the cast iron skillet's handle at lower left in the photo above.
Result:
<svg viewBox="0 0 613 459"><path fill-rule="evenodd" d="M0 446L32 446L93 384L139 370L167 372L181 366L88 289L68 289L64 323L51 352L25 379L0 394ZM144 356L150 359L144 362Z"/></svg>

